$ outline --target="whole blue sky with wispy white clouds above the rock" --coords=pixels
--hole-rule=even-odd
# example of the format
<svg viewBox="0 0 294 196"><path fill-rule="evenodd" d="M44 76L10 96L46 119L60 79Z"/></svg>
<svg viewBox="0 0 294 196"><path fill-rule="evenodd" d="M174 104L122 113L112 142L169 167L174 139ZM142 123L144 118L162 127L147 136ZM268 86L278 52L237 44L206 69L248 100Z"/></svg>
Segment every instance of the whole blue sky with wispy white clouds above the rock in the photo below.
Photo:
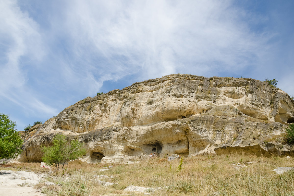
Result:
<svg viewBox="0 0 294 196"><path fill-rule="evenodd" d="M17 129L173 73L294 94L294 1L0 0L0 113Z"/></svg>

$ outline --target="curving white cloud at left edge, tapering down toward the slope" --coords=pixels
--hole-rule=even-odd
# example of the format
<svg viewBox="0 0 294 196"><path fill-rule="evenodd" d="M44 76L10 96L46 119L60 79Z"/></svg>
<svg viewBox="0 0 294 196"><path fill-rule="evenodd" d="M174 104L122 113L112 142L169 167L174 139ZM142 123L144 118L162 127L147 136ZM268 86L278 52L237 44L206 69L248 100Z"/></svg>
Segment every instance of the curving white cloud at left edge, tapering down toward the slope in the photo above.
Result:
<svg viewBox="0 0 294 196"><path fill-rule="evenodd" d="M27 66L38 67L44 56L38 25L16 1L0 1L0 19L0 96L25 110L56 113L27 87Z"/></svg>

